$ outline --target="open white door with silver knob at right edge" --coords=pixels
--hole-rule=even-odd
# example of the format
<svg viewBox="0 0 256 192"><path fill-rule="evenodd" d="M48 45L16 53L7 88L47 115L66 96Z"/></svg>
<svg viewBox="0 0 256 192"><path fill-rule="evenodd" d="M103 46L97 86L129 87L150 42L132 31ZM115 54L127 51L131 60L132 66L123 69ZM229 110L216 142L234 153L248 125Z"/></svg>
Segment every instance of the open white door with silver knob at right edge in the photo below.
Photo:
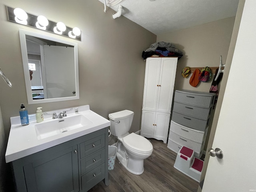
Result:
<svg viewBox="0 0 256 192"><path fill-rule="evenodd" d="M202 192L256 191L256 1L246 0Z"/></svg>

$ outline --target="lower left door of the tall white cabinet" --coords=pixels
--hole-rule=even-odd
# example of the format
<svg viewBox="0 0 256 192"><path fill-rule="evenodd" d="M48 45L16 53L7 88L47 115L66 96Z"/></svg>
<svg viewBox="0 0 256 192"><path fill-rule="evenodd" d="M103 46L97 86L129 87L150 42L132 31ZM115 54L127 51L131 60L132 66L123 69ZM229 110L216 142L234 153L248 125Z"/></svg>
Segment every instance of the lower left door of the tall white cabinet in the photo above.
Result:
<svg viewBox="0 0 256 192"><path fill-rule="evenodd" d="M145 137L154 136L156 112L142 110L141 135Z"/></svg>

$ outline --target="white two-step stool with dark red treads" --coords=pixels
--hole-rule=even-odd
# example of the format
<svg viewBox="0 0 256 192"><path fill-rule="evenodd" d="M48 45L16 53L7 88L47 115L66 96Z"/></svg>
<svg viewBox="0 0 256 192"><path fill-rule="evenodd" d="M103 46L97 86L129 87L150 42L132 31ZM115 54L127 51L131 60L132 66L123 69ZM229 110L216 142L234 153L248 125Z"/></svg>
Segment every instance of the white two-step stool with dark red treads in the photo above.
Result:
<svg viewBox="0 0 256 192"><path fill-rule="evenodd" d="M180 148L174 168L200 182L204 161L194 157L194 150L183 146Z"/></svg>

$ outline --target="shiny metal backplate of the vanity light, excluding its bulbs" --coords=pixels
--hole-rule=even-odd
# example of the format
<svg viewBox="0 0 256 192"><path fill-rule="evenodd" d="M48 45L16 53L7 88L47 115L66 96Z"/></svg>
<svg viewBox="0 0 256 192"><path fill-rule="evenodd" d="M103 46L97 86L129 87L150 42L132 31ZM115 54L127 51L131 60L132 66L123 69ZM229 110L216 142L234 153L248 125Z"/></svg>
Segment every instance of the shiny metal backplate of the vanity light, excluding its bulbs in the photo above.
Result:
<svg viewBox="0 0 256 192"><path fill-rule="evenodd" d="M23 25L26 25L26 26L31 26L31 27L34 27L34 28L37 28L37 29L40 29L40 30L44 30L44 28L45 28L45 30L48 31L48 32L52 32L52 33L59 34L59 35L62 35L62 36L66 36L66 37L69 37L69 38L81 40L81 34L75 35L75 36L72 36L72 37L69 36L69 32L72 33L73 28L70 28L68 26L66 26L66 30L62 31L62 33L60 33L60 32L56 33L56 30L54 30L54 28L56 29L57 23L53 22L53 21L50 21L50 20L48 20L49 24L47 26L44 26L44 28L38 28L36 26L36 22L38 22L38 16L29 14L29 13L26 13L28 15L28 18L26 20L27 23L17 22L16 21L17 19L15 20L14 8L11 8L11 7L8 7L8 6L6 6L6 8L7 8L9 21L19 23L19 24L23 24Z"/></svg>

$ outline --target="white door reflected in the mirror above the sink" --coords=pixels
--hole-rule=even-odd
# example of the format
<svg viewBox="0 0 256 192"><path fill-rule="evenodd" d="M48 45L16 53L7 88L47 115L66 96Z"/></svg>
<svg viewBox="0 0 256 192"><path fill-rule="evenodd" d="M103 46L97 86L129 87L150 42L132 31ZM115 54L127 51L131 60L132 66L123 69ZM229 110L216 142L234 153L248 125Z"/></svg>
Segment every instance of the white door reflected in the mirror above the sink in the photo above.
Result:
<svg viewBox="0 0 256 192"><path fill-rule="evenodd" d="M74 48L44 45L47 98L75 96Z"/></svg>

